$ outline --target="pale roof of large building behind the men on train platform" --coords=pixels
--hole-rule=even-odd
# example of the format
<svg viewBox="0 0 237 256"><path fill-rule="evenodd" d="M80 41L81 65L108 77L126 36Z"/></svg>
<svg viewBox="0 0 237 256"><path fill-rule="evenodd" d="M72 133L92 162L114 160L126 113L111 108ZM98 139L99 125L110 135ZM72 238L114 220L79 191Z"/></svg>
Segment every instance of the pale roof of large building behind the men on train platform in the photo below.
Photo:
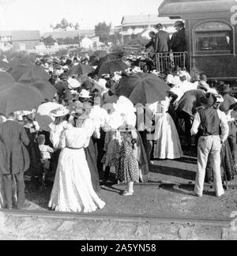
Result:
<svg viewBox="0 0 237 256"><path fill-rule="evenodd" d="M131 15L122 17L122 26L133 26L143 24L174 24L175 21L169 17L158 17L157 14Z"/></svg>

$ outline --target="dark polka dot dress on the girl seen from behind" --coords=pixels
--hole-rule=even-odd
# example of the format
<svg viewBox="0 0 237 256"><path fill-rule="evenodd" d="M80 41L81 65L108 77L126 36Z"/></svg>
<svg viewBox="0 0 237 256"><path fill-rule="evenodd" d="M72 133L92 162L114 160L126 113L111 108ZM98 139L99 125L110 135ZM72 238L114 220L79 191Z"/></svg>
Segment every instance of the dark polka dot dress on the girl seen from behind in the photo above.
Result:
<svg viewBox="0 0 237 256"><path fill-rule="evenodd" d="M138 164L133 151L132 135L121 133L121 137L122 145L119 149L115 179L122 183L139 182Z"/></svg>

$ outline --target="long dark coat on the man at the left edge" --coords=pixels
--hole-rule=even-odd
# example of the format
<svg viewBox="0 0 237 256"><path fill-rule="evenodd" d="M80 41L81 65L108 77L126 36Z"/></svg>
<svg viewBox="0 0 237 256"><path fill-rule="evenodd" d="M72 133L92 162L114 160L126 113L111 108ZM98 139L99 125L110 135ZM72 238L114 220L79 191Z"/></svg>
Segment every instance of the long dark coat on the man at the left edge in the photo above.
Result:
<svg viewBox="0 0 237 256"><path fill-rule="evenodd" d="M30 160L25 148L28 143L28 136L23 126L14 121L0 124L0 172L3 175L28 170Z"/></svg>

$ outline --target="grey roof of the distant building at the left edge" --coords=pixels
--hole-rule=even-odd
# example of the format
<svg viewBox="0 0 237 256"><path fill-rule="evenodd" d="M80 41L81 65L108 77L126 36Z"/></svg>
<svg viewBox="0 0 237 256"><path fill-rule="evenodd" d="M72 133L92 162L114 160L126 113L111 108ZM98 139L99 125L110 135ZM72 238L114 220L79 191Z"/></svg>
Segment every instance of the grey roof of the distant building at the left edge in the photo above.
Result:
<svg viewBox="0 0 237 256"><path fill-rule="evenodd" d="M1 31L0 36L11 36L12 41L35 41L40 40L39 30L16 30L16 31Z"/></svg>

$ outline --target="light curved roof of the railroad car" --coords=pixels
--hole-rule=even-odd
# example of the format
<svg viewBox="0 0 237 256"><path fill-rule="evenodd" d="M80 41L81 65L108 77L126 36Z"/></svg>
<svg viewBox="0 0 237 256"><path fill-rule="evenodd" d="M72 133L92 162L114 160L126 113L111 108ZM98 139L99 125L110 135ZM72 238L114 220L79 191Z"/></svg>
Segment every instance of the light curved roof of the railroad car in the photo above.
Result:
<svg viewBox="0 0 237 256"><path fill-rule="evenodd" d="M158 11L160 17L192 19L198 17L231 16L235 0L164 0Z"/></svg>

